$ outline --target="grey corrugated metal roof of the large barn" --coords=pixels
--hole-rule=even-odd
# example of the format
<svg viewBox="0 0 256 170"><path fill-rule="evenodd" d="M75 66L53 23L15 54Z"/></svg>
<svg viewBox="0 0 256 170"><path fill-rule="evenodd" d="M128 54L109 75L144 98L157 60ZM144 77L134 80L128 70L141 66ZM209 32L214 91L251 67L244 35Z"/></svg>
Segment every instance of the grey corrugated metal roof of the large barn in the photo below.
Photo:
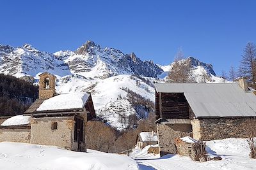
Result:
<svg viewBox="0 0 256 170"><path fill-rule="evenodd" d="M256 96L238 83L156 83L156 91L184 93L196 117L256 117Z"/></svg>

